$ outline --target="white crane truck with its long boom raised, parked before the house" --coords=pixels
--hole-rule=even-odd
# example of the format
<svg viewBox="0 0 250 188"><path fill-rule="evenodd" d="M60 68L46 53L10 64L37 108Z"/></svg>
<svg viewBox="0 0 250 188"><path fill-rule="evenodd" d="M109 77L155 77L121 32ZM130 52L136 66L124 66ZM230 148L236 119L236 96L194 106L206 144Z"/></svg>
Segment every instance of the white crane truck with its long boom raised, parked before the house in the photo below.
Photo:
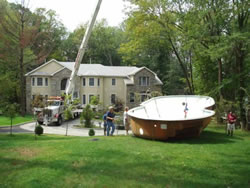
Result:
<svg viewBox="0 0 250 188"><path fill-rule="evenodd" d="M100 6L101 6L101 2L102 0L98 0L97 2L97 6L96 9L94 11L94 14L92 16L91 21L89 22L88 26L87 26L87 30L84 34L82 43L80 45L80 48L78 50L78 54L75 60L75 65L74 65L74 69L72 70L72 73L70 75L70 79L69 79L69 83L66 86L66 96L67 95L72 95L72 93L74 93L74 87L75 87L75 80L76 80L76 75L78 73L81 61L83 59L84 53L86 51L87 48L87 44L88 44L88 40L89 37L91 35L92 29L94 27L95 24L95 20L97 17L97 14L99 12ZM40 112L37 112L38 117L37 117L37 121L39 124L50 124L52 122L57 123L57 125L61 125L63 122L63 114L64 114L64 110L65 110L65 105L64 105L64 98L63 97L49 97L48 98L48 106L45 107L44 109L42 109ZM72 101L67 100L66 101L68 103L68 105L70 105L72 103ZM73 117L77 117L79 116L79 114L82 112L82 109L72 109L72 116Z"/></svg>

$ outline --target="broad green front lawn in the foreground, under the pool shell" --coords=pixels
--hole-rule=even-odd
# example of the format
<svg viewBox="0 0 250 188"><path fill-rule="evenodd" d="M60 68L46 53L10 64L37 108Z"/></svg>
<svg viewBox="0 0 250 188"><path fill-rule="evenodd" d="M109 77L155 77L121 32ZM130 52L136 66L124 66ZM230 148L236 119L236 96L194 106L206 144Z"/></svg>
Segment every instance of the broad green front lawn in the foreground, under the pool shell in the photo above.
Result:
<svg viewBox="0 0 250 188"><path fill-rule="evenodd" d="M96 139L96 140L94 140ZM250 133L196 139L0 135L0 187L250 187Z"/></svg>

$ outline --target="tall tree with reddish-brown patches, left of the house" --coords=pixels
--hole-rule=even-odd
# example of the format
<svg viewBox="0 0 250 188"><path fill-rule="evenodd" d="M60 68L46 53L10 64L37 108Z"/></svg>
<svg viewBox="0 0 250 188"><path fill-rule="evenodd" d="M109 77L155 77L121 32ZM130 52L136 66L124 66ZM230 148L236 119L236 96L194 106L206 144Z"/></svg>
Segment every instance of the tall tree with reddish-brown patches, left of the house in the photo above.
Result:
<svg viewBox="0 0 250 188"><path fill-rule="evenodd" d="M22 115L25 114L25 72L44 62L56 46L57 36L61 38L64 34L64 27L53 11L38 9L32 13L26 4L25 0L20 4L0 0L0 70L17 83L15 102L20 103Z"/></svg>

